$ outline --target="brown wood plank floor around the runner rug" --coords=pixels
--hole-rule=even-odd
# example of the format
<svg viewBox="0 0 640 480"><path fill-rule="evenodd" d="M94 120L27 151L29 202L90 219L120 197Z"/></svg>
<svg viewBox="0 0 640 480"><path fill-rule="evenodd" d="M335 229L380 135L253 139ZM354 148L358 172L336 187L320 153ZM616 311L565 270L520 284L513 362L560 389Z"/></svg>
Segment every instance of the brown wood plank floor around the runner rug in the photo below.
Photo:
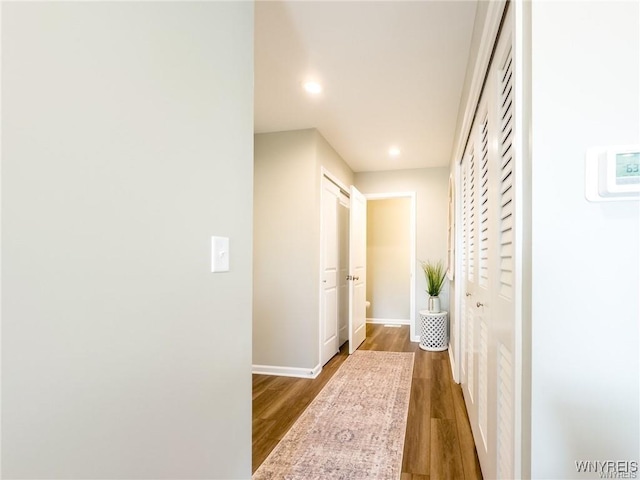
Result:
<svg viewBox="0 0 640 480"><path fill-rule="evenodd" d="M401 480L481 479L460 386L448 352L426 352L409 327L367 325L361 350L415 352ZM347 358L344 348L314 380L253 376L253 471Z"/></svg>

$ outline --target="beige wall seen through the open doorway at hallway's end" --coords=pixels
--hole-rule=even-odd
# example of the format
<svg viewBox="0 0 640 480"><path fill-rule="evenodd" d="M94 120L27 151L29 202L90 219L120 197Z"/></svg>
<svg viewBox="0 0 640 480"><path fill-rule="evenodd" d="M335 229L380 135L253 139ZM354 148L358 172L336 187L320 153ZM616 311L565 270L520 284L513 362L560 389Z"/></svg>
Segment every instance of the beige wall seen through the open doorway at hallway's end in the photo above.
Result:
<svg viewBox="0 0 640 480"><path fill-rule="evenodd" d="M410 198L367 202L367 318L411 318L410 220Z"/></svg>

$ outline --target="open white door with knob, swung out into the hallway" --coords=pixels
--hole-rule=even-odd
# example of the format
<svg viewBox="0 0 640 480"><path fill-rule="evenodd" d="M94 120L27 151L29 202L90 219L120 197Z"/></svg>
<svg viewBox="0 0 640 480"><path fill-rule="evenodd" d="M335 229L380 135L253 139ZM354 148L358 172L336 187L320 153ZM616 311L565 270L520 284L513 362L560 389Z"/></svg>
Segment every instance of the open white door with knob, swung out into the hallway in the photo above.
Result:
<svg viewBox="0 0 640 480"><path fill-rule="evenodd" d="M367 337L367 199L351 186L349 216L349 354Z"/></svg>

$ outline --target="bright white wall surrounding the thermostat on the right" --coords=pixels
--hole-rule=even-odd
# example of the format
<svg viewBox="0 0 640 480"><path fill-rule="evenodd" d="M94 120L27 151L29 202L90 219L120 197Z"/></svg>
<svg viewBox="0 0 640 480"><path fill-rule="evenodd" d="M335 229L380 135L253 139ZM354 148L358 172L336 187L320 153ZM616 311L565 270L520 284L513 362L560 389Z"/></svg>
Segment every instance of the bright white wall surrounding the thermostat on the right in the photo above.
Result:
<svg viewBox="0 0 640 480"><path fill-rule="evenodd" d="M584 196L589 147L640 143L639 14L532 3L533 478L640 460L640 204Z"/></svg>

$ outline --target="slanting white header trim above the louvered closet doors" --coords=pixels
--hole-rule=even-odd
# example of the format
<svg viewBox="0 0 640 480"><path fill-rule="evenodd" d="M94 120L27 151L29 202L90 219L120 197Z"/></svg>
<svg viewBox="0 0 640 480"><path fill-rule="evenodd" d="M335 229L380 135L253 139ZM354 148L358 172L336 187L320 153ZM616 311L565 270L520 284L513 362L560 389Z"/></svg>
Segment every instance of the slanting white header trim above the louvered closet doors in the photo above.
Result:
<svg viewBox="0 0 640 480"><path fill-rule="evenodd" d="M462 160L464 149L467 146L467 138L469 137L469 132L471 131L471 126L475 118L476 106L480 102L484 79L489 69L491 54L493 53L493 47L502 21L502 14L506 6L507 0L495 0L489 2L489 6L487 7L487 16L485 17L476 63L473 67L473 77L471 77L467 105L464 110L462 125L458 131L455 143L456 148L453 151L454 162L460 162Z"/></svg>

